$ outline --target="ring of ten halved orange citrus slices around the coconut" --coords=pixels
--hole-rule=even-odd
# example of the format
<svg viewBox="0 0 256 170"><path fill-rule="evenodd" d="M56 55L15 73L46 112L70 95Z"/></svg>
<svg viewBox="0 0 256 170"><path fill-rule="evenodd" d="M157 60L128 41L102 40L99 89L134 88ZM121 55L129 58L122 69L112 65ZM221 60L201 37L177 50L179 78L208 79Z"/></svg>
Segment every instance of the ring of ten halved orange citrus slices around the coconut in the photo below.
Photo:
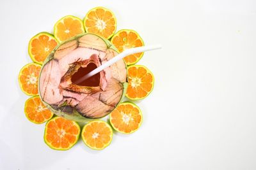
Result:
<svg viewBox="0 0 256 170"><path fill-rule="evenodd" d="M102 120L93 120L84 125L80 134L77 122L62 117L53 117L38 96L38 76L44 60L54 48L69 38L90 32L109 39L119 52L128 48L143 46L143 40L138 32L122 29L116 32L116 17L106 8L97 7L88 11L84 20L67 15L54 25L53 34L40 32L29 41L28 53L33 63L26 64L19 73L20 89L29 98L25 103L24 112L29 121L35 124L45 124L45 143L54 150L68 150L77 143L81 135L85 145L94 149L106 148L115 131L131 134L139 129L142 122L140 108L131 102L120 103L109 114L109 124ZM141 59L143 53L135 53L124 58L128 69L128 87L125 96L130 100L144 99L152 92L154 76L151 71L141 65L133 65Z"/></svg>

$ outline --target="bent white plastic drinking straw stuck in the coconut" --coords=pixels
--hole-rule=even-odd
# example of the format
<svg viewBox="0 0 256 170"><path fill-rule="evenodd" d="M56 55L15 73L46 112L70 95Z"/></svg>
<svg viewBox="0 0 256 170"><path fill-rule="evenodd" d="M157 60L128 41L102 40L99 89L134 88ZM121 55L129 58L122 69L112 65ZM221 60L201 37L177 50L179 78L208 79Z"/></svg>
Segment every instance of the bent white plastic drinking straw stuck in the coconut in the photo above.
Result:
<svg viewBox="0 0 256 170"><path fill-rule="evenodd" d="M106 67L111 66L112 64L114 64L115 62L117 62L120 59L123 59L127 55L131 55L132 53L140 53L140 52L146 52L146 51L150 51L150 50L157 50L157 49L160 49L161 47L162 47L161 45L148 45L148 46L140 46L140 47L136 47L136 48L129 48L129 49L125 50L124 52L119 53L118 55L113 57L111 60L108 60L108 62L105 62L104 64L97 67L96 69L93 69L93 71L91 71L90 73L86 74L85 76L83 76L82 78L77 80L76 84L81 83L82 81L99 73L103 69L106 69Z"/></svg>

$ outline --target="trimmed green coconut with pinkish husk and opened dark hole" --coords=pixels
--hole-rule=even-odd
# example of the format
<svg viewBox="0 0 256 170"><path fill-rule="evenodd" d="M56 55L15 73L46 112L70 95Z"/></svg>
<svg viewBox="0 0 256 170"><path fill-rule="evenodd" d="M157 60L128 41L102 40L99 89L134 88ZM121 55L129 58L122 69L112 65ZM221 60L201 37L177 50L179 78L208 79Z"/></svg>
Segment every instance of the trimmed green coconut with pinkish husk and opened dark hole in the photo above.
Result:
<svg viewBox="0 0 256 170"><path fill-rule="evenodd" d="M125 94L124 60L77 82L117 54L107 39L90 33L56 46L40 71L38 91L42 102L56 115L80 122L108 115Z"/></svg>

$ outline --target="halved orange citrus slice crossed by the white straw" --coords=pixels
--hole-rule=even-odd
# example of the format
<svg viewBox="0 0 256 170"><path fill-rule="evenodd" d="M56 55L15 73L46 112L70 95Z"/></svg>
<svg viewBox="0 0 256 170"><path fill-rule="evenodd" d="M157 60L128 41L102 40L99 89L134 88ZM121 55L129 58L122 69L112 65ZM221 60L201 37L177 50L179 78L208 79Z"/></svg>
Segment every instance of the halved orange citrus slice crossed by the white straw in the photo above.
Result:
<svg viewBox="0 0 256 170"><path fill-rule="evenodd" d="M123 52L129 48L134 48L138 46L143 46L144 42L140 35L131 29L122 29L111 38L111 43L116 46L119 52ZM134 53L124 57L127 65L135 64L143 56L143 52Z"/></svg>

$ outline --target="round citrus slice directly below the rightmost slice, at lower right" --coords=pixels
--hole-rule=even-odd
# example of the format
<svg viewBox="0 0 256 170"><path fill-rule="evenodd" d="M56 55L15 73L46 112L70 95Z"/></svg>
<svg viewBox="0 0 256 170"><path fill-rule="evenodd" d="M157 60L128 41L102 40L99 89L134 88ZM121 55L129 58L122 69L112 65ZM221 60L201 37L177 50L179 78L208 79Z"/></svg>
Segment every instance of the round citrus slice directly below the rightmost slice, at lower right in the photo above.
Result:
<svg viewBox="0 0 256 170"><path fill-rule="evenodd" d="M119 104L110 114L110 124L112 127L124 134L131 134L137 131L141 122L141 110L136 104L131 102Z"/></svg>

